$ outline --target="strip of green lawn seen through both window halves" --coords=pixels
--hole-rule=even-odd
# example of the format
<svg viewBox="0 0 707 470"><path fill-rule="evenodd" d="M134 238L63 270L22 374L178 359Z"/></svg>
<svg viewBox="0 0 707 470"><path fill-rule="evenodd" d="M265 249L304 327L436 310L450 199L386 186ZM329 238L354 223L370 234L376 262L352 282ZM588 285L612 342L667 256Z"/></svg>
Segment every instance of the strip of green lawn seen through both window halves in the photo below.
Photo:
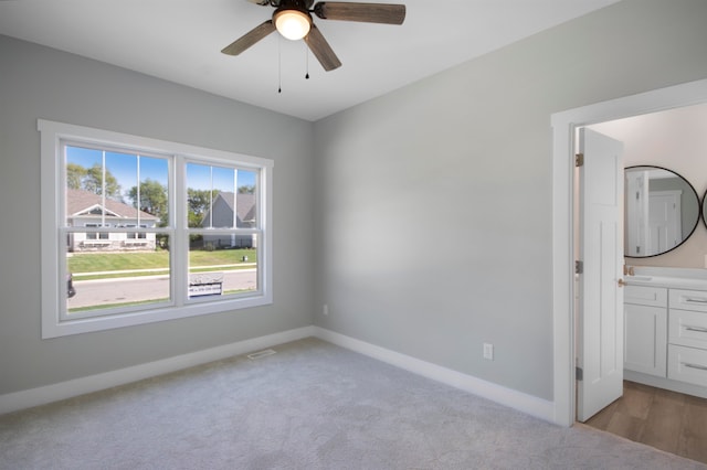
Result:
<svg viewBox="0 0 707 470"><path fill-rule="evenodd" d="M244 261L243 257L247 257ZM189 253L189 266L231 265L232 269L251 266L255 263L255 249L214 249L212 252L193 250ZM81 253L66 258L68 271L74 276L83 273L120 271L130 269L167 269L169 267L169 252L134 252L134 253ZM106 277L106 276L102 276Z"/></svg>

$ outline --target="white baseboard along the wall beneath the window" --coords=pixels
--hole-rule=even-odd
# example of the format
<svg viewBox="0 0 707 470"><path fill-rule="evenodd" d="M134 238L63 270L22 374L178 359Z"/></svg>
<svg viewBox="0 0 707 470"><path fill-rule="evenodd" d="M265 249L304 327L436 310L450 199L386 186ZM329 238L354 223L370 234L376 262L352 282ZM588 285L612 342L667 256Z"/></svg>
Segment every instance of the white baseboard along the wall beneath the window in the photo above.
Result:
<svg viewBox="0 0 707 470"><path fill-rule="evenodd" d="M296 330L253 338L245 341L239 341L236 343L168 357L131 367L119 368L117 371L105 372L102 374L89 375L87 377L75 378L73 381L60 382L57 384L0 395L0 415L30 408L32 406L57 402L64 398L71 398L91 392L110 388L117 385L128 384L143 378L167 374L169 372L205 364L212 361L219 361L225 357L232 357L234 355L265 348L272 348L277 344L314 335L314 327L304 327Z"/></svg>

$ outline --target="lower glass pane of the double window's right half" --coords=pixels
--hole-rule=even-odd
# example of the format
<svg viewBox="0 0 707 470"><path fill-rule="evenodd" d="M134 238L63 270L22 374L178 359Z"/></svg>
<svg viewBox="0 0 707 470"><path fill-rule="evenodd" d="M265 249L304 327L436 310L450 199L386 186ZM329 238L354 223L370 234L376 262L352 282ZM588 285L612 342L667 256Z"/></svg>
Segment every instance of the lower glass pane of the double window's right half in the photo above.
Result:
<svg viewBox="0 0 707 470"><path fill-rule="evenodd" d="M254 235L204 234L192 237L194 239L189 249L189 298L257 290ZM231 245L239 243L244 247L231 248Z"/></svg>

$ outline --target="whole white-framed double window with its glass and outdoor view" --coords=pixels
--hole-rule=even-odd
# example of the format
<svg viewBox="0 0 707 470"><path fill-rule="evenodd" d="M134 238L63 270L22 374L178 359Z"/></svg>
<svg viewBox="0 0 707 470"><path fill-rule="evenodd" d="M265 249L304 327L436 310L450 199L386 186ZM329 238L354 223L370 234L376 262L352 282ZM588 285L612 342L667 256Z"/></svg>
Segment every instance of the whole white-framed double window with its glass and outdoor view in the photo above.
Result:
<svg viewBox="0 0 707 470"><path fill-rule="evenodd" d="M39 130L43 338L272 303L271 160Z"/></svg>

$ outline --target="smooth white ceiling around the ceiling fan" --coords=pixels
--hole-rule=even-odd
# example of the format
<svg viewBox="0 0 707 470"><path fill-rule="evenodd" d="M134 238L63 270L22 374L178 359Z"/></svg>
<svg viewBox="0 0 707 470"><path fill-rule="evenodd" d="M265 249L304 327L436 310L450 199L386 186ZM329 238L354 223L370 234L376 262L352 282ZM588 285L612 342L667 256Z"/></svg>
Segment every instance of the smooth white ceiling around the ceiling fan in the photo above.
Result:
<svg viewBox="0 0 707 470"><path fill-rule="evenodd" d="M314 121L616 1L381 0L407 6L402 25L315 17L333 72L277 33L221 54L272 14L245 0L0 0L0 34Z"/></svg>

